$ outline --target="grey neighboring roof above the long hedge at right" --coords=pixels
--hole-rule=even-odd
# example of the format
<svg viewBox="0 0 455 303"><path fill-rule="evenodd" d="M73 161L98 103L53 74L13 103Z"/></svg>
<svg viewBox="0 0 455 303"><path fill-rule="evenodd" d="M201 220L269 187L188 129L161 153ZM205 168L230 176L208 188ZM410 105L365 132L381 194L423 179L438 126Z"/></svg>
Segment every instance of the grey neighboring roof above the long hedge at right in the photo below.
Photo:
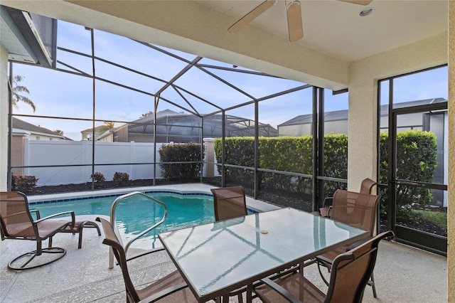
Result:
<svg viewBox="0 0 455 303"><path fill-rule="evenodd" d="M412 106L419 106L419 105L427 105L433 103L440 103L446 102L444 98L434 98L434 99L425 99L425 100L417 100L417 101L410 101L410 102L401 102L396 103L394 106L395 108L400 107L412 107ZM381 117L389 115L389 106L388 105L381 105L380 106L380 115ZM333 122L333 121L341 121L348 119L348 110L335 110L333 112L325 112L324 113L324 122ZM292 119L287 120L282 124L279 124L278 127L288 126L288 125L299 125L299 124L310 124L313 121L313 115L299 115Z"/></svg>

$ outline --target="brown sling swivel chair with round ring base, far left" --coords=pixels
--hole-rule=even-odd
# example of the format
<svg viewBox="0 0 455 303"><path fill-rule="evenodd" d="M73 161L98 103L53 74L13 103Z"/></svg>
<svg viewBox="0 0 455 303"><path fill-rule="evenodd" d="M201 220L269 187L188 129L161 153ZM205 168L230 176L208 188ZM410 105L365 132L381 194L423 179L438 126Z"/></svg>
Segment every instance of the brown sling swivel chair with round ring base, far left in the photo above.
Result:
<svg viewBox="0 0 455 303"><path fill-rule="evenodd" d="M36 241L36 250L26 252L9 262L8 267L12 270L29 270L47 265L60 259L66 253L64 248L52 247L52 237L68 226L74 227L74 212L55 213L54 215L36 220L33 219L32 212L28 208L28 201L25 194L18 191L2 191L0 193L1 240ZM71 220L49 220L50 218L68 214L71 215ZM42 242L46 239L49 239L48 248L42 248ZM43 254L54 256L36 258Z"/></svg>

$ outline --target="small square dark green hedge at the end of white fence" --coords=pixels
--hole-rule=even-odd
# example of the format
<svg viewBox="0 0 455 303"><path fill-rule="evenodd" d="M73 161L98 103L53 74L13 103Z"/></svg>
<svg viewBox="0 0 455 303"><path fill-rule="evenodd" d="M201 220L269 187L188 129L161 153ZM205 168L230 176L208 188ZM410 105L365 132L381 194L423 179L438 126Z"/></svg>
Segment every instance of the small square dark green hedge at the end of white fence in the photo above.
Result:
<svg viewBox="0 0 455 303"><path fill-rule="evenodd" d="M205 150L202 151L205 153ZM161 164L161 174L169 181L193 180L200 176L202 168L200 144L164 144L159 149L161 162L194 162L182 164Z"/></svg>

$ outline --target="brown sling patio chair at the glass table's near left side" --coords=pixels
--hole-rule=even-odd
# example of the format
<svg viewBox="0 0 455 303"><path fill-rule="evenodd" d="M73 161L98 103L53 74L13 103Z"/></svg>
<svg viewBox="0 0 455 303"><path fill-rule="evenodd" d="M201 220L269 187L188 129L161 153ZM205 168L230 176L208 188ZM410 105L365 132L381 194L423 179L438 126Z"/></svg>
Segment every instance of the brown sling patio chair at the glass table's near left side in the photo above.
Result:
<svg viewBox="0 0 455 303"><path fill-rule="evenodd" d="M186 285L186 282L183 280L183 277L177 270L143 289L136 289L131 277L129 277L125 250L122 244L120 244L119 238L117 238L117 235L114 232L114 228L108 220L103 218L97 218L96 220L101 222L102 229L105 231L106 238L102 243L109 245L112 248L112 252L114 252L114 256L122 269L125 289L127 291L127 303L139 301L161 303L197 302L196 297L194 297L193 293L188 288L188 285Z"/></svg>

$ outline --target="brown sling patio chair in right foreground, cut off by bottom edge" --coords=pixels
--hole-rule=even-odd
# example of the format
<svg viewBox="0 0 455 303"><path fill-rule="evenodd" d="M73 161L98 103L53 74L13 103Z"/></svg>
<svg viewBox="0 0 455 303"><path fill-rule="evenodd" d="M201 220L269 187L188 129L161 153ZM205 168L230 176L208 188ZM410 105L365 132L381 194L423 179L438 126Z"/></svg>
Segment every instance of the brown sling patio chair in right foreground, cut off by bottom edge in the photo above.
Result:
<svg viewBox="0 0 455 303"><path fill-rule="evenodd" d="M380 240L393 236L394 233L389 230L338 255L333 260L326 294L296 271L274 280L261 280L264 284L255 287L255 293L266 303L362 302L363 292L375 267Z"/></svg>

